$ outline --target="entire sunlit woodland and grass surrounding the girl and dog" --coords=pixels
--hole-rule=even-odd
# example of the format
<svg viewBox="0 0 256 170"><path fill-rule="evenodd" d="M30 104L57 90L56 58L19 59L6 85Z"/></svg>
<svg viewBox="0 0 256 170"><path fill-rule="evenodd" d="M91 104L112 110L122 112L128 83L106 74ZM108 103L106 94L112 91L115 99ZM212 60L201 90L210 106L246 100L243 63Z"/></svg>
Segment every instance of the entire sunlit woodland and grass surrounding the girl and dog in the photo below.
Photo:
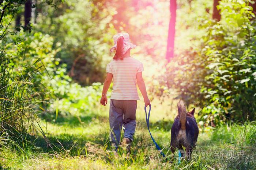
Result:
<svg viewBox="0 0 256 170"><path fill-rule="evenodd" d="M0 4L1 168L255 169L255 1ZM137 45L131 55L144 65L150 128L168 159L177 101L196 107L200 133L191 161L160 157L143 101L131 157L122 149L114 157L108 107L99 99L118 32Z"/></svg>

